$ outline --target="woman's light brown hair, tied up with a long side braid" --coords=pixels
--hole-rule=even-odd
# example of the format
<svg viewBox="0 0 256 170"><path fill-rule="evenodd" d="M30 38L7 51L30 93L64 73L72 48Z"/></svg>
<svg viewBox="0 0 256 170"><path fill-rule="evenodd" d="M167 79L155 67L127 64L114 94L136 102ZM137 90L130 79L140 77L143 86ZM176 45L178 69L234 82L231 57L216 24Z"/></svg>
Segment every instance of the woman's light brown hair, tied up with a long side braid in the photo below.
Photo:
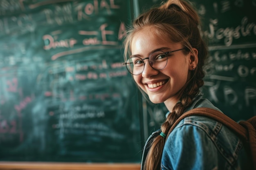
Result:
<svg viewBox="0 0 256 170"><path fill-rule="evenodd" d="M168 0L160 7L155 7L141 14L132 24L132 28L128 30L125 41L124 60L130 52L130 43L136 33L145 27L153 28L159 37L167 37L173 42L181 42L187 49L184 53L194 53L193 48L198 50L198 64L193 73L189 74L187 83L182 88L180 102L177 102L173 108L173 112L168 115L166 121L162 124L161 130L165 134L168 133L174 121L180 117L184 109L189 106L193 98L200 92L203 86L204 77L204 61L207 57L208 49L200 35L200 17L193 6L184 0ZM150 150L146 157L144 170L161 169L162 152L165 139L162 136L155 137L151 144Z"/></svg>

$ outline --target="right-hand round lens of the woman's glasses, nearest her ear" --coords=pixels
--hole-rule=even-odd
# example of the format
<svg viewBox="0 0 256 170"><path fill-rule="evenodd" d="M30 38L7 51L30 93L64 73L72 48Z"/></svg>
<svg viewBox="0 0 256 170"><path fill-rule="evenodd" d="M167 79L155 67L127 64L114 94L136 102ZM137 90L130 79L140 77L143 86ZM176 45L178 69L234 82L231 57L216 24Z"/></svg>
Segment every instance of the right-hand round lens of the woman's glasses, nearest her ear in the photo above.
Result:
<svg viewBox="0 0 256 170"><path fill-rule="evenodd" d="M167 56L162 51L157 51L149 56L149 64L155 70L162 70L167 64Z"/></svg>

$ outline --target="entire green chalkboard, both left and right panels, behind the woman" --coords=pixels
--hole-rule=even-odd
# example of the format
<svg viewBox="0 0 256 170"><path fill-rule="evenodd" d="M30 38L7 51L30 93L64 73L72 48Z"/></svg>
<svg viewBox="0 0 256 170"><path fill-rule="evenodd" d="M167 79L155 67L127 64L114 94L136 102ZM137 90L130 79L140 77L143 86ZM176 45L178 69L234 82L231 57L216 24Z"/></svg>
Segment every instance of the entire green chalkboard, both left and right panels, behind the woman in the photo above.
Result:
<svg viewBox="0 0 256 170"><path fill-rule="evenodd" d="M139 162L167 109L141 98L122 40L161 2L1 0L0 161ZM204 96L236 121L256 115L255 0L191 2L209 40Z"/></svg>

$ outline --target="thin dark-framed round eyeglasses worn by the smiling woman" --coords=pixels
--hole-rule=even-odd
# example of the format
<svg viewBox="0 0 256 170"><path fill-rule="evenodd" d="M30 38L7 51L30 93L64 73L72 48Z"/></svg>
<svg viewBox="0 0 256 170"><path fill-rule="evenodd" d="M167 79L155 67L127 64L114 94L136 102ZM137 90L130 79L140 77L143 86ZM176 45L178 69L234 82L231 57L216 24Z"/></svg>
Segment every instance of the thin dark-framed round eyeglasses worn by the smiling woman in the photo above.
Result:
<svg viewBox="0 0 256 170"><path fill-rule="evenodd" d="M174 50L174 51L168 51L165 53L163 51L156 51L154 53L151 53L148 57L144 59L140 57L131 57L126 62L124 62L123 65L126 65L127 70L131 74L139 75L144 71L144 67L145 67L144 60L148 59L149 64L152 68L154 68L155 70L162 70L165 68L167 64L168 54L173 53L175 51L184 50L184 49L185 48Z"/></svg>

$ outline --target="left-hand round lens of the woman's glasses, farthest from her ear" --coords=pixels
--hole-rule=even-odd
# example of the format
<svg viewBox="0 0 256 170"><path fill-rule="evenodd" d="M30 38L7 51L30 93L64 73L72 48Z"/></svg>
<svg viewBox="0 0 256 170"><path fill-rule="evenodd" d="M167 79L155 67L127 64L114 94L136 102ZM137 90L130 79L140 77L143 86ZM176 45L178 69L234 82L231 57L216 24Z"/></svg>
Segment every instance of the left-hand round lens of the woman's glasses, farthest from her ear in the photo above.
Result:
<svg viewBox="0 0 256 170"><path fill-rule="evenodd" d="M143 72L144 62L139 57L132 57L127 60L126 68L133 75L139 75Z"/></svg>

